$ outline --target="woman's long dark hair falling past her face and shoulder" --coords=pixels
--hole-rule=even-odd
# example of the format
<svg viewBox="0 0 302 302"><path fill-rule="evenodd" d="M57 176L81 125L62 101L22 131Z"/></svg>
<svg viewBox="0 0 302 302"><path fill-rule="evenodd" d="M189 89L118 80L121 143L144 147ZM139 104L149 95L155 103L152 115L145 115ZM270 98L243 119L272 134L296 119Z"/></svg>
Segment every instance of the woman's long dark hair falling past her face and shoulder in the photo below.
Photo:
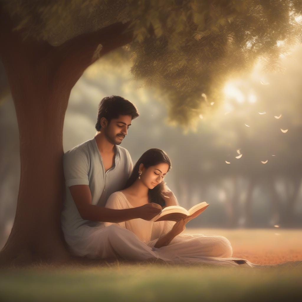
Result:
<svg viewBox="0 0 302 302"><path fill-rule="evenodd" d="M165 151L157 148L149 149L140 157L137 163L134 165L130 178L128 179L125 189L130 187L138 178L138 171L140 168L140 164L143 164L146 169L150 166L158 165L163 162L166 162L169 165L169 172L172 169L172 164L169 156ZM153 189L149 189L148 192L148 199L149 202L154 202L156 204L161 205L162 207L165 206L165 200L162 198L162 195L165 195L167 192L167 186L164 181L159 183Z"/></svg>

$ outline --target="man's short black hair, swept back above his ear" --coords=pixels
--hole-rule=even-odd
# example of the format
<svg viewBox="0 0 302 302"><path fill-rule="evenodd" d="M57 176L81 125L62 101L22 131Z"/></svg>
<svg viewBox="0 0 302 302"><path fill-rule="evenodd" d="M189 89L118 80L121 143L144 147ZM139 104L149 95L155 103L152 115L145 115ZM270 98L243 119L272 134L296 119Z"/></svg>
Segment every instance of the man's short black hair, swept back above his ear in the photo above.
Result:
<svg viewBox="0 0 302 302"><path fill-rule="evenodd" d="M111 119L118 118L119 115L131 115L132 120L140 114L135 105L130 101L118 95L104 97L98 105L98 120L95 124L95 129L101 131L101 118L105 117L110 123Z"/></svg>

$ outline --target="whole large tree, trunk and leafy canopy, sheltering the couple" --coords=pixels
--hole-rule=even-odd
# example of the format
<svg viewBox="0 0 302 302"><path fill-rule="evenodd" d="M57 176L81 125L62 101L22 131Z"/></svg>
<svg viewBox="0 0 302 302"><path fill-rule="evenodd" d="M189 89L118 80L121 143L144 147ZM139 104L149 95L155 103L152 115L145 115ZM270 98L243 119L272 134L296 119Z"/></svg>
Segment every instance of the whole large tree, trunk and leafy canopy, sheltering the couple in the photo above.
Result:
<svg viewBox="0 0 302 302"><path fill-rule="evenodd" d="M261 56L278 69L279 54L301 37L301 11L297 0L2 0L0 55L18 118L21 179L0 262L69 259L59 220L63 122L89 65L120 49L133 75L159 88L171 122L194 126L209 101L219 102L227 77Z"/></svg>

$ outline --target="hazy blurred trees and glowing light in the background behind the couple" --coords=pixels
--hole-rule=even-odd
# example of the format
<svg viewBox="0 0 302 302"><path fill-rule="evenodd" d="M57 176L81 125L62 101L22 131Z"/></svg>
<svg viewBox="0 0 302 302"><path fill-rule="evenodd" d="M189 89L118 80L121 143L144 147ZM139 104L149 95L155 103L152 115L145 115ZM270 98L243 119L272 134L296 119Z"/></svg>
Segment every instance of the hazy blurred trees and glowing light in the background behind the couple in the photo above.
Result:
<svg viewBox="0 0 302 302"><path fill-rule="evenodd" d="M195 131L167 122L159 92L141 88L130 75L130 65L106 62L88 68L72 90L64 151L94 137L101 98L121 95L140 111L121 145L133 163L146 149L164 149L172 159L165 181L179 204L210 204L188 226L301 227L301 46L283 59L284 73L263 73L259 63L250 75L229 79L225 99L217 106L209 104ZM10 95L2 98L0 116L2 247L14 219L20 179L18 124ZM243 154L240 159L235 158L237 149Z"/></svg>

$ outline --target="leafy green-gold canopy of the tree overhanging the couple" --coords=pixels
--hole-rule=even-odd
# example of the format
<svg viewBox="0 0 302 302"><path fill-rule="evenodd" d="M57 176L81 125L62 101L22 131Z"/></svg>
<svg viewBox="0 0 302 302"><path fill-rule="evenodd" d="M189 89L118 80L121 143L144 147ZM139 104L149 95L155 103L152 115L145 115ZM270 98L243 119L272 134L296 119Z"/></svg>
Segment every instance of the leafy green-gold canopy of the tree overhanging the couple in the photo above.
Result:
<svg viewBox="0 0 302 302"><path fill-rule="evenodd" d="M159 88L170 120L184 126L223 101L226 80L248 72L258 59L278 71L280 54L302 33L299 0L2 2L18 21L16 29L54 46L130 21L133 41L121 52L133 61L131 72Z"/></svg>

